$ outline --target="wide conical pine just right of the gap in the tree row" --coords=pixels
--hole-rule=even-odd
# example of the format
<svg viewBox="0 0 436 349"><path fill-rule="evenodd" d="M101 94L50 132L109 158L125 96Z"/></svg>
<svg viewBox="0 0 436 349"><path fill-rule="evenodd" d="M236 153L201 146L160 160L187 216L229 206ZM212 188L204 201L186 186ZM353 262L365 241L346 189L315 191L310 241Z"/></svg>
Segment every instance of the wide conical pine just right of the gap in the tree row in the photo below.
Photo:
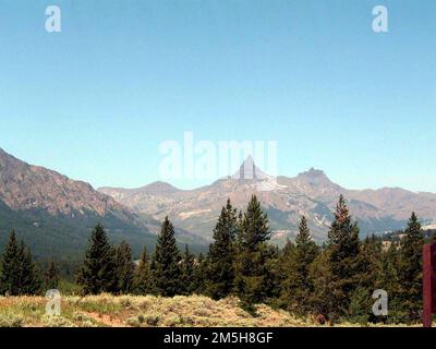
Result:
<svg viewBox="0 0 436 349"><path fill-rule="evenodd" d="M117 290L114 249L110 245L106 231L99 224L93 229L89 248L77 275L77 282L83 287L85 294Z"/></svg>

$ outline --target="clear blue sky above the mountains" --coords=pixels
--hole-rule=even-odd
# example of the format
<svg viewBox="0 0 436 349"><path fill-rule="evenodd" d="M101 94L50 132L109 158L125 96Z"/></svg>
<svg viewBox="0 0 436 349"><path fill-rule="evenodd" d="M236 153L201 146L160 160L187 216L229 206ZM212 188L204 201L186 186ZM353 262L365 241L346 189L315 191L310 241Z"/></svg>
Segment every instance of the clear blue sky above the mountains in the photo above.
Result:
<svg viewBox="0 0 436 349"><path fill-rule="evenodd" d="M436 192L434 0L0 0L0 147L95 186L159 180L192 131L277 141L280 174Z"/></svg>

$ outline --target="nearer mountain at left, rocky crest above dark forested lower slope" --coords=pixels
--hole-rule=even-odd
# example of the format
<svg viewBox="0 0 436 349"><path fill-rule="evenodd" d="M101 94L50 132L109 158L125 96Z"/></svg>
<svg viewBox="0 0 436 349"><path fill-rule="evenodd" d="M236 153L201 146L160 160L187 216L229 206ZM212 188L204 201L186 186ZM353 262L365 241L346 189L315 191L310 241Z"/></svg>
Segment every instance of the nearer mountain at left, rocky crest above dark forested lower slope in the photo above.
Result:
<svg viewBox="0 0 436 349"><path fill-rule="evenodd" d="M88 183L28 165L0 148L0 246L14 228L36 255L74 258L97 222L113 242L126 240L136 253L144 244L153 248L160 227L160 221L140 217ZM181 242L206 243L182 229L177 233Z"/></svg>

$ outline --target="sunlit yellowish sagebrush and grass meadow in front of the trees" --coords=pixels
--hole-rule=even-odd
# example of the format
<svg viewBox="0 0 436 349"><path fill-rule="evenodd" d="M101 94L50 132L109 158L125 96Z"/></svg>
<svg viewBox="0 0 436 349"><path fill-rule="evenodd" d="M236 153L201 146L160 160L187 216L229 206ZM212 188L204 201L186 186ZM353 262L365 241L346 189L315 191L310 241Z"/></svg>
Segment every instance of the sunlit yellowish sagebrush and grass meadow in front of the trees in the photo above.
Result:
<svg viewBox="0 0 436 349"><path fill-rule="evenodd" d="M1 297L0 327L316 326L266 305L258 305L258 316L253 317L238 306L235 298L214 301L203 296L66 296L59 316L46 315L46 303L43 297Z"/></svg>

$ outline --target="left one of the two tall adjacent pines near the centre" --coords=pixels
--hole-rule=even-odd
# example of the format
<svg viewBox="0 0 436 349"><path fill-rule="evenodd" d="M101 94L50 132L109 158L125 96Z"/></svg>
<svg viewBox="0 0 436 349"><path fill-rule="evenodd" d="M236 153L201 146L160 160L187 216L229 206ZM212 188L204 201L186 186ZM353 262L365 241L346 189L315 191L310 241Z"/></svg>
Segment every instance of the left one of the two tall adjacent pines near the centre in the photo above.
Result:
<svg viewBox="0 0 436 349"><path fill-rule="evenodd" d="M238 230L237 209L230 198L222 207L209 245L206 292L213 299L229 296L234 287L234 239Z"/></svg>

